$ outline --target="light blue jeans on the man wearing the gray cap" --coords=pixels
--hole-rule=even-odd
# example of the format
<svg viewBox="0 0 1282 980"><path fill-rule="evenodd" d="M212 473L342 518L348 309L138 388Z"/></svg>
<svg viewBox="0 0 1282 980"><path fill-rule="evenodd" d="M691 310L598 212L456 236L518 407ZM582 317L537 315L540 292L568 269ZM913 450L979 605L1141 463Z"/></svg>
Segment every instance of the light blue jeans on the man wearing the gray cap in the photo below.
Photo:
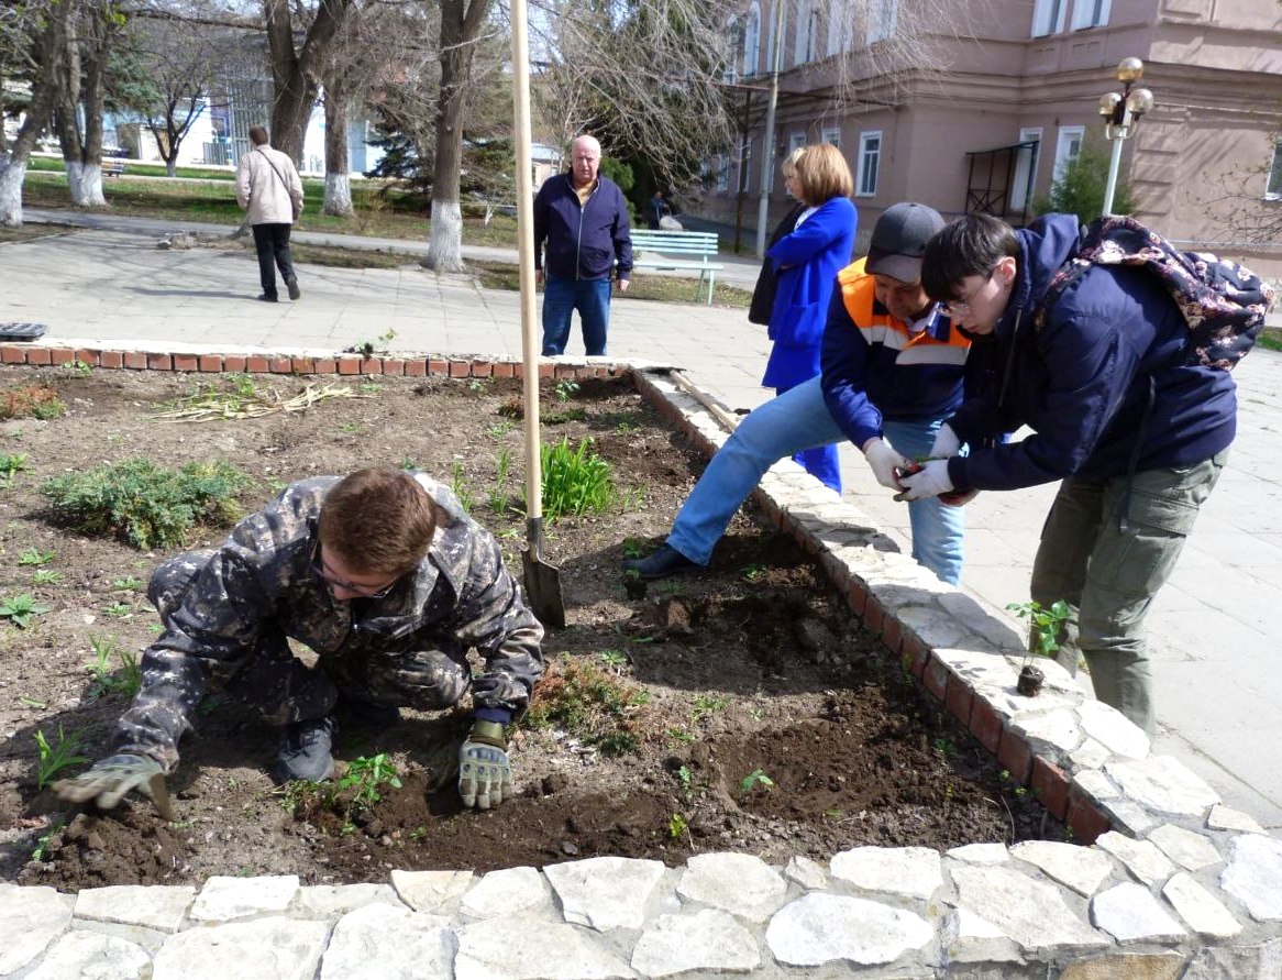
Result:
<svg viewBox="0 0 1282 980"><path fill-rule="evenodd" d="M912 458L931 452L942 418L883 422L887 440ZM677 514L668 544L686 558L708 564L713 545L765 471L803 449L845 440L828 413L819 378L753 409L708 463ZM888 493L888 491L887 491ZM965 508L949 507L937 496L908 505L913 528L913 558L950 585L962 580Z"/></svg>

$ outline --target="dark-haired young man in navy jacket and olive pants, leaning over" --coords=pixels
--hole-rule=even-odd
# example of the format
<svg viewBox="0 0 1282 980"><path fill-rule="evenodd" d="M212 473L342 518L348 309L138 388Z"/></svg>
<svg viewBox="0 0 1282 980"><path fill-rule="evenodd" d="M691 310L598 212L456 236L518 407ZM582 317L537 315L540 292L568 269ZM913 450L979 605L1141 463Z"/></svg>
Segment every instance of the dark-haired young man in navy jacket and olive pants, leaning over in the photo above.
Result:
<svg viewBox="0 0 1282 980"><path fill-rule="evenodd" d="M954 322L994 345L1004 376L967 399L908 499L1063 480L1033 562L1032 598L1076 612L1060 662L1085 655L1096 697L1154 734L1144 620L1228 458L1237 395L1227 371L1188 359L1188 327L1144 268L1091 266L1051 304L1051 276L1077 253L1076 217L1014 231L969 214L935 236L922 281ZM1033 435L983 444L1029 426ZM969 455L955 455L969 444Z"/></svg>

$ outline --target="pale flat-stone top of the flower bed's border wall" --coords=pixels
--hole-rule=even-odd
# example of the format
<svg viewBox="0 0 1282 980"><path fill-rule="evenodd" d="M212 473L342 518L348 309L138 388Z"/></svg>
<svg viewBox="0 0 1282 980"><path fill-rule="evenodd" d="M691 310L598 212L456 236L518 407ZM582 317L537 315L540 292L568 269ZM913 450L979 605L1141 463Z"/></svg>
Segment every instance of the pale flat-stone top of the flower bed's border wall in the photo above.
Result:
<svg viewBox="0 0 1282 980"><path fill-rule="evenodd" d="M726 437L667 372L637 384L706 448ZM1042 693L1019 695L1010 622L879 550L867 514L791 462L758 494L1079 843L860 847L785 867L604 857L350 886L0 885L0 977L1282 977L1282 841L1053 662Z"/></svg>

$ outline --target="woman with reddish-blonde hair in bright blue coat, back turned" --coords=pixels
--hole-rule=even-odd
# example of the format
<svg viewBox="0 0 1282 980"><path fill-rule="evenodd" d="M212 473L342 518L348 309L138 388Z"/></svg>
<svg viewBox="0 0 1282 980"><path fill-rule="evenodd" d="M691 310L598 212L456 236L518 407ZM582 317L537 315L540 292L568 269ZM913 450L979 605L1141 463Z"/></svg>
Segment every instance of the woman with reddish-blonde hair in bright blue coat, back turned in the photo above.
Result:
<svg viewBox="0 0 1282 980"><path fill-rule="evenodd" d="M859 217L850 203L854 180L841 150L806 146L796 160L795 195L806 209L796 227L767 250L778 276L770 308L774 341L762 384L783 394L819 373L819 349L837 272L850 264ZM841 493L837 446L794 457L813 476Z"/></svg>

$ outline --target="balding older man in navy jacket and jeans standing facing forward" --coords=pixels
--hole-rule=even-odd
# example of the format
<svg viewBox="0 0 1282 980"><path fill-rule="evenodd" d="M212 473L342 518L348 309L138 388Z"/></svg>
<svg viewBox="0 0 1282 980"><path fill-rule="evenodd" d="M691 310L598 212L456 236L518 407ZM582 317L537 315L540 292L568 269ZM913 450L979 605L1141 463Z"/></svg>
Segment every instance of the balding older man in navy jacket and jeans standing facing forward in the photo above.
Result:
<svg viewBox="0 0 1282 980"><path fill-rule="evenodd" d="M544 283L544 357L565 353L569 318L576 309L583 321L588 355L604 354L615 263L619 292L628 291L628 205L619 186L597 173L600 165L601 144L579 136L570 148L569 173L549 177L535 196L535 268Z"/></svg>

